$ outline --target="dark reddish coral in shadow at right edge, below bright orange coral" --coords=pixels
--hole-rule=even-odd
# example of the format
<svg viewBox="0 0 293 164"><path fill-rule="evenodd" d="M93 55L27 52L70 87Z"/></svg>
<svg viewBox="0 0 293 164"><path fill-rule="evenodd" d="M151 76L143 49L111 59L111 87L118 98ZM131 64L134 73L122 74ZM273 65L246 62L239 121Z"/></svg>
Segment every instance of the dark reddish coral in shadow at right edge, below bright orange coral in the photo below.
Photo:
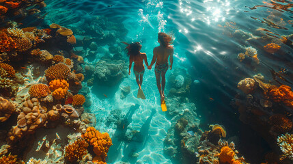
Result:
<svg viewBox="0 0 293 164"><path fill-rule="evenodd" d="M293 123L285 115L275 114L270 117L270 124L277 132L286 133L292 129Z"/></svg>

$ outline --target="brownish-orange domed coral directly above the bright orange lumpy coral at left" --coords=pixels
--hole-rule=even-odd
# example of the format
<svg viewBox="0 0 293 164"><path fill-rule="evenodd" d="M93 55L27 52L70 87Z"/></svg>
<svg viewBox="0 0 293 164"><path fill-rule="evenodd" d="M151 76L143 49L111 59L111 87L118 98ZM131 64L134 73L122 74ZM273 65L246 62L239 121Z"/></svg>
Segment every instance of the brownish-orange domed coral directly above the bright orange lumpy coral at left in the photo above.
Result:
<svg viewBox="0 0 293 164"><path fill-rule="evenodd" d="M56 64L45 70L45 76L47 81L52 81L54 79L67 79L70 73L70 68L66 64Z"/></svg>

